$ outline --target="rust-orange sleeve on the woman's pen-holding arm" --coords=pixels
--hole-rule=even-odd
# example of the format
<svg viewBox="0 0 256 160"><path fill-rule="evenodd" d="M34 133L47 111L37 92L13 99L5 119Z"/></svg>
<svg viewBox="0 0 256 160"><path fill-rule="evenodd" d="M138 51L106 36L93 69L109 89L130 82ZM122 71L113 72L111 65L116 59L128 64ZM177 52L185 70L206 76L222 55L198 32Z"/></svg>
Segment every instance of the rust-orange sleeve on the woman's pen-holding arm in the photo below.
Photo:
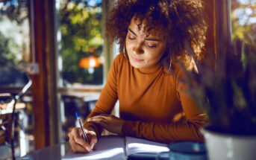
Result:
<svg viewBox="0 0 256 160"><path fill-rule="evenodd" d="M96 106L90 115L87 116L84 121L84 127L92 127L96 130L96 135L99 138L102 134L102 127L99 124L93 124L92 122L87 122L88 118L91 118L95 115L107 114L109 115L113 109L113 106L117 100L117 83L116 83L116 74L118 72L118 57L113 61L113 64L110 67L110 71L107 75L107 82L102 89L99 100L97 100Z"/></svg>

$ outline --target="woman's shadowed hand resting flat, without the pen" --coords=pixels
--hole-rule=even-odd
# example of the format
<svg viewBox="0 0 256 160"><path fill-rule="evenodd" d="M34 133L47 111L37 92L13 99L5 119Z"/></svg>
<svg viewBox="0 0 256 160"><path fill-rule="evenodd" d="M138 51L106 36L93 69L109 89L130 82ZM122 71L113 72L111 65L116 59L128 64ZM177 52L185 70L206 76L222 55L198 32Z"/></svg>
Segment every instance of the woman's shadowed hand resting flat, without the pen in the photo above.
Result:
<svg viewBox="0 0 256 160"><path fill-rule="evenodd" d="M125 123L125 120L117 118L114 115L96 115L88 118L87 121L99 124L108 131L119 135L122 135L122 125Z"/></svg>

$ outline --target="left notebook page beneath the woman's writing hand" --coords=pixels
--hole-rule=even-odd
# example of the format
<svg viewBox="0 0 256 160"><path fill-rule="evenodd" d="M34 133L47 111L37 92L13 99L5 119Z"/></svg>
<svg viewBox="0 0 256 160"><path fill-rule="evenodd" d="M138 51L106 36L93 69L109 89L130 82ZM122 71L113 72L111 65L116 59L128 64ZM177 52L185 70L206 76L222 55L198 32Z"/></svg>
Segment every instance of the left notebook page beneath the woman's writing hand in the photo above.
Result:
<svg viewBox="0 0 256 160"><path fill-rule="evenodd" d="M97 150L93 153L73 153L70 149L63 160L76 159L125 159L125 138L115 135L102 136L96 144Z"/></svg>

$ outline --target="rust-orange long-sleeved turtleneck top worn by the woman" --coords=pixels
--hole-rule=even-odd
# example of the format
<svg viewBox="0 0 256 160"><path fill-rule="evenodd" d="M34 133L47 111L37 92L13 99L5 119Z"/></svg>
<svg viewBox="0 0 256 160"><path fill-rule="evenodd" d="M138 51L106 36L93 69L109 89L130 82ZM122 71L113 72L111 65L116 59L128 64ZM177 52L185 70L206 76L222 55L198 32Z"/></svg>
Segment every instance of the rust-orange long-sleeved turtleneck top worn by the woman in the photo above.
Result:
<svg viewBox="0 0 256 160"><path fill-rule="evenodd" d="M184 92L181 71L177 65L172 74L158 63L151 68L131 66L119 54L110 67L107 83L96 107L88 118L110 114L119 100L120 118L125 120L122 134L152 141L203 141L199 128L204 116L192 98ZM93 127L99 137L102 128L85 121L84 127Z"/></svg>

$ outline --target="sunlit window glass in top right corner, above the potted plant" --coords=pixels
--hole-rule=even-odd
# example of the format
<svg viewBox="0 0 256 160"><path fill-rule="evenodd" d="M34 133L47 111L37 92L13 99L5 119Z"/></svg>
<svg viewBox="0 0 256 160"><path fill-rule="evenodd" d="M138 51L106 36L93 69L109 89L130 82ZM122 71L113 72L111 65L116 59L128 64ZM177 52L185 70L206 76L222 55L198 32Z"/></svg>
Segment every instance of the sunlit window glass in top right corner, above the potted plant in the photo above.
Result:
<svg viewBox="0 0 256 160"><path fill-rule="evenodd" d="M248 36L256 42L256 0L231 1L232 39L247 41Z"/></svg>

